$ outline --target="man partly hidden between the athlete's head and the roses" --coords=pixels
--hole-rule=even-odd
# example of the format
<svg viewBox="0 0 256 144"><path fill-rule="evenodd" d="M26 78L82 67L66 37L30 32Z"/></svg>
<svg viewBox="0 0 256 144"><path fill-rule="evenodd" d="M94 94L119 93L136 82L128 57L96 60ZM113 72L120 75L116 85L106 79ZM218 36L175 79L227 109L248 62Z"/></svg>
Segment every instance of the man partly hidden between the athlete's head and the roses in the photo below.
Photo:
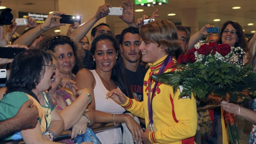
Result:
<svg viewBox="0 0 256 144"><path fill-rule="evenodd" d="M181 42L182 50L184 53L186 53L188 50L188 42L190 39L190 33L189 33L188 29L184 26L175 25L175 27L177 28L178 37Z"/></svg>

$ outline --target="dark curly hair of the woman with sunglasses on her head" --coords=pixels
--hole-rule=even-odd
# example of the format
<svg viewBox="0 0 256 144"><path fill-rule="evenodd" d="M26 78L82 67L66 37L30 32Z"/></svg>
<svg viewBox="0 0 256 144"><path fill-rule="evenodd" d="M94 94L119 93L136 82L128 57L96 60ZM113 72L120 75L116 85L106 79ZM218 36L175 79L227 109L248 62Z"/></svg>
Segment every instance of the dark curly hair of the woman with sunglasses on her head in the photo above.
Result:
<svg viewBox="0 0 256 144"><path fill-rule="evenodd" d="M39 49L43 50L51 50L55 52L54 48L58 45L69 44L72 47L75 56L75 66L72 72L76 72L82 68L82 58L80 58L81 51L79 50L79 46L75 40L72 40L69 36L66 35L53 35L53 36L45 36L42 41L38 43ZM81 48L82 49L82 48Z"/></svg>

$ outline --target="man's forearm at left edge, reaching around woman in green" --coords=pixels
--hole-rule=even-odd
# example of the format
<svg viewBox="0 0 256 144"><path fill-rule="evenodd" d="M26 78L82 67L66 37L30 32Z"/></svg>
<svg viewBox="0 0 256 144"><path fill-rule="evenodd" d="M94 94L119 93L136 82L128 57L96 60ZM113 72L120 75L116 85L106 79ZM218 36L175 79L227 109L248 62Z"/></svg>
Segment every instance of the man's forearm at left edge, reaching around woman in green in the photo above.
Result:
<svg viewBox="0 0 256 144"><path fill-rule="evenodd" d="M20 130L19 118L12 117L0 122L0 139L10 135L11 133Z"/></svg>

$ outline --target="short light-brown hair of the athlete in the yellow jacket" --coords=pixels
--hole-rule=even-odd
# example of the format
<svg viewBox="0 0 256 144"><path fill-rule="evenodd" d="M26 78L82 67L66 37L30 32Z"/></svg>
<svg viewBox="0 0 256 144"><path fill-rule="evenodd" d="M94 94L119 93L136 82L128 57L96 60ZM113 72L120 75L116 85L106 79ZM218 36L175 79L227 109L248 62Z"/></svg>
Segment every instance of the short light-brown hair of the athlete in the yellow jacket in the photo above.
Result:
<svg viewBox="0 0 256 144"><path fill-rule="evenodd" d="M156 20L140 27L141 39L148 43L156 43L171 56L178 58L182 53L181 43L178 39L177 29L168 20Z"/></svg>

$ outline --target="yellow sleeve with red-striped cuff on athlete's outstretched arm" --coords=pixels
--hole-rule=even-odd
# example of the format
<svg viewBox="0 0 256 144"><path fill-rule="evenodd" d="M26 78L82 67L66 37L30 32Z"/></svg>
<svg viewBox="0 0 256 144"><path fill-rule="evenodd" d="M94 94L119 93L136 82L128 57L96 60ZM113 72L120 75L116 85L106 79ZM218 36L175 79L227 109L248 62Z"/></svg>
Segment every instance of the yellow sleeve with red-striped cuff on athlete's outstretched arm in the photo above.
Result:
<svg viewBox="0 0 256 144"><path fill-rule="evenodd" d="M122 104L121 106L137 117L145 117L143 102L138 102L134 99L128 98L127 102Z"/></svg>

